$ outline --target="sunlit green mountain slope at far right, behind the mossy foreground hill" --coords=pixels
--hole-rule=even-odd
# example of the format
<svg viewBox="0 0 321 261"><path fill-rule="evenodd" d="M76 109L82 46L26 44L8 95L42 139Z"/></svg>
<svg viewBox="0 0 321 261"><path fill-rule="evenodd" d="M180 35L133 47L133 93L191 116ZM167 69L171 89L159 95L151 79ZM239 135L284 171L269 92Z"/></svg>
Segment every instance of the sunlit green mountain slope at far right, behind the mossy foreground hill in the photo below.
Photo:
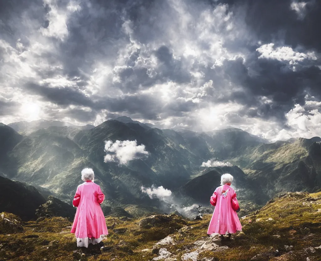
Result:
<svg viewBox="0 0 321 261"><path fill-rule="evenodd" d="M228 158L240 166L264 194L283 191L315 192L321 188L321 139L299 138L292 142L260 144L238 157Z"/></svg>

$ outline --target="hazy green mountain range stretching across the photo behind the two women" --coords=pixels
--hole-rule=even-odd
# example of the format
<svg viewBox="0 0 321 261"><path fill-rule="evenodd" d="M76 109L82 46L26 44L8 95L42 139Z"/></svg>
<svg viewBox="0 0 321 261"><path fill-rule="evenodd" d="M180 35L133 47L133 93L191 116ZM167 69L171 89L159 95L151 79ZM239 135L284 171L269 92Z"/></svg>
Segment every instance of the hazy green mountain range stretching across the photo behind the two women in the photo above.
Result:
<svg viewBox="0 0 321 261"><path fill-rule="evenodd" d="M108 140L136 140L148 157L127 164L104 162ZM0 141L0 176L46 189L69 204L84 167L94 170L95 182L106 195L103 207L135 211L158 209L164 202L208 204L226 172L235 178L232 186L244 209L263 205L279 192L316 192L321 187L319 137L269 143L236 128L210 133L161 130L120 117L96 127L42 120L1 124ZM142 191L160 186L171 195Z"/></svg>

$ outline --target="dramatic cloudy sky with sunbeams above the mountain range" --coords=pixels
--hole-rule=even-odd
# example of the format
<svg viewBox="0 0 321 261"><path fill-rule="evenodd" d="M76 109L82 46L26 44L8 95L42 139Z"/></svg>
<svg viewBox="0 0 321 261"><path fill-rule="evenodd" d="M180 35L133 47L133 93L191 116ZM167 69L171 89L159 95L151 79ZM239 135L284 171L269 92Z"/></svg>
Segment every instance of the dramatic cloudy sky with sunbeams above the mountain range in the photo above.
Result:
<svg viewBox="0 0 321 261"><path fill-rule="evenodd" d="M0 122L321 133L318 0L0 3Z"/></svg>

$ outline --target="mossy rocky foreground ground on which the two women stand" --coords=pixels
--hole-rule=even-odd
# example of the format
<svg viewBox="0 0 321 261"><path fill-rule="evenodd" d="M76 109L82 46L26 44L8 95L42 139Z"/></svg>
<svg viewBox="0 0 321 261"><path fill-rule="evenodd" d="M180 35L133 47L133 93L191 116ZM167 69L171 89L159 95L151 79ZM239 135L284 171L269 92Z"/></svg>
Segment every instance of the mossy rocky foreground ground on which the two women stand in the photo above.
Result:
<svg viewBox="0 0 321 261"><path fill-rule="evenodd" d="M23 222L0 214L0 260L321 260L321 193L286 193L241 218L243 231L221 242L206 235L211 215L143 219L106 217L104 247L77 248L71 222L50 217Z"/></svg>

